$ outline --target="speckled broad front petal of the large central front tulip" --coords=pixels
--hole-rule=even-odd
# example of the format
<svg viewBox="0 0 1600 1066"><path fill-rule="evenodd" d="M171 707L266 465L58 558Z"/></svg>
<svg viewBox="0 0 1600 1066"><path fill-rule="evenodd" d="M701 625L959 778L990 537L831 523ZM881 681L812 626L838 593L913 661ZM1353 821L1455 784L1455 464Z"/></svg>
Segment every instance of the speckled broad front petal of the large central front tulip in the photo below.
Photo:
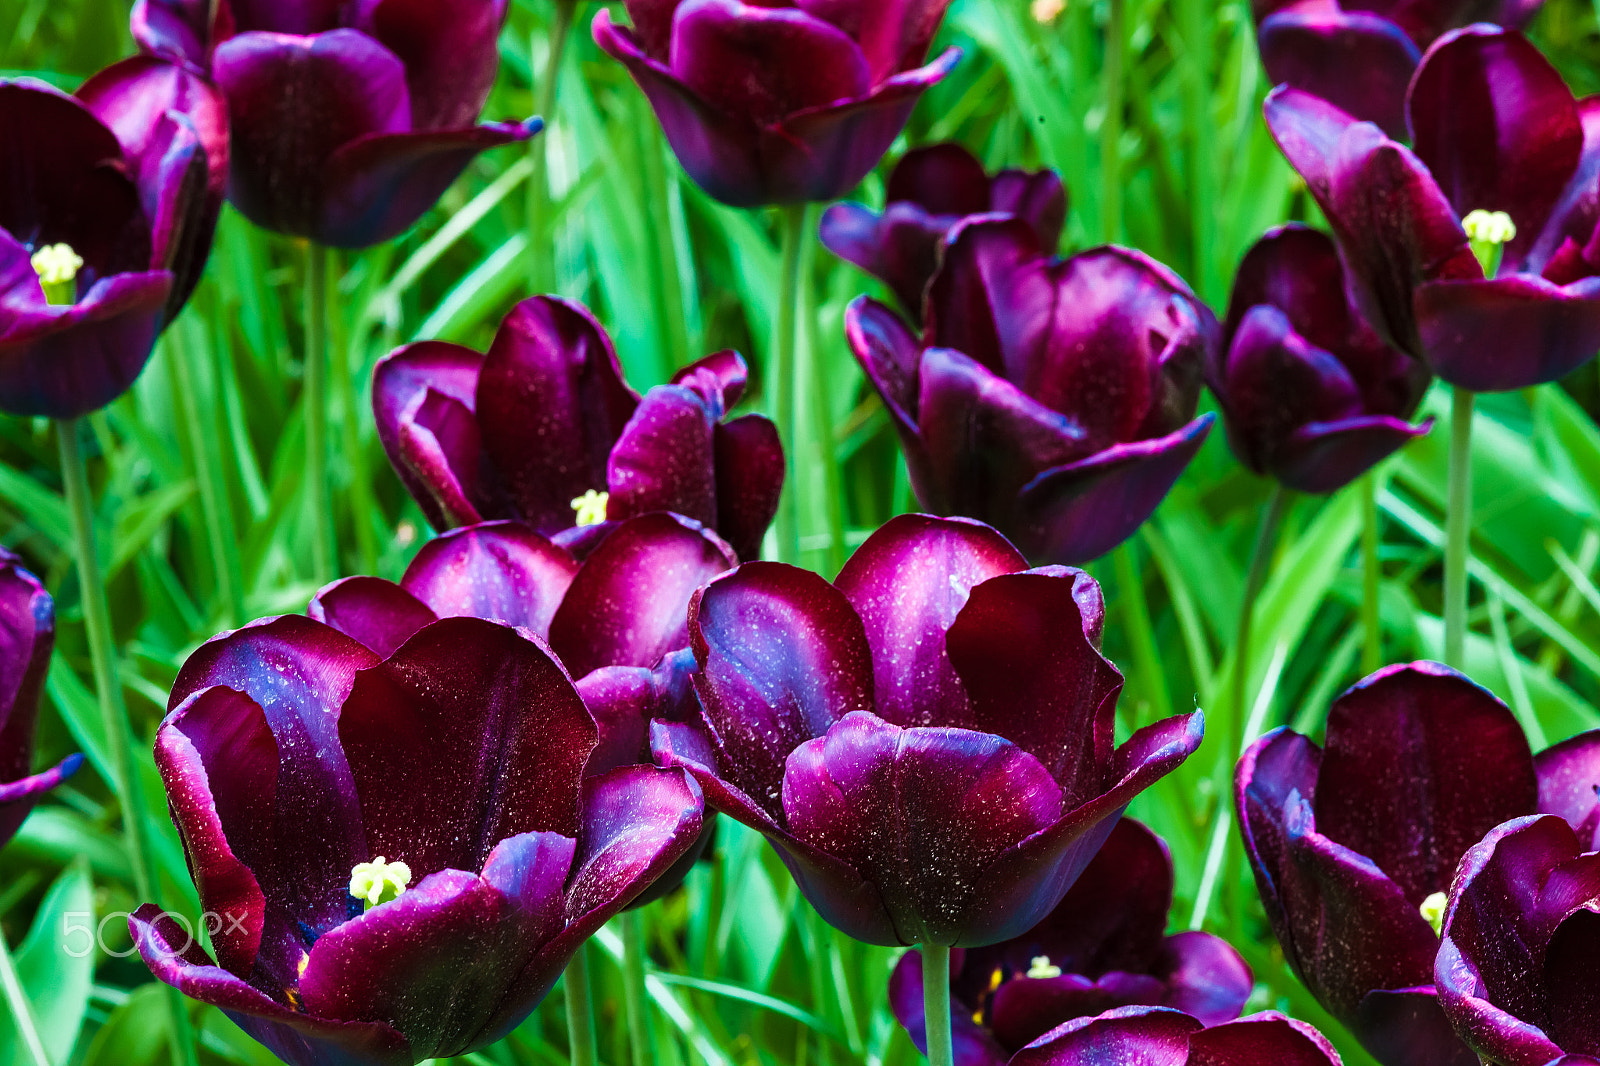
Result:
<svg viewBox="0 0 1600 1066"><path fill-rule="evenodd" d="M1061 789L1000 736L842 719L784 771L789 829L874 882L907 943L963 940L995 860L1061 816Z"/></svg>

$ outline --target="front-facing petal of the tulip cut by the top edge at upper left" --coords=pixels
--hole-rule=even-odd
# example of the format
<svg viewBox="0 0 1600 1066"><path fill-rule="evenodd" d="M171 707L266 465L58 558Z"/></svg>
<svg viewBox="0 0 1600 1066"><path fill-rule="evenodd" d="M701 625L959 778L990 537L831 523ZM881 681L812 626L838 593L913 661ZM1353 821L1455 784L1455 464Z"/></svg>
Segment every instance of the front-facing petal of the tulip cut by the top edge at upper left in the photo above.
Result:
<svg viewBox="0 0 1600 1066"><path fill-rule="evenodd" d="M400 58L352 29L248 32L216 48L232 133L229 198L245 218L323 238L326 165L344 144L411 125Z"/></svg>

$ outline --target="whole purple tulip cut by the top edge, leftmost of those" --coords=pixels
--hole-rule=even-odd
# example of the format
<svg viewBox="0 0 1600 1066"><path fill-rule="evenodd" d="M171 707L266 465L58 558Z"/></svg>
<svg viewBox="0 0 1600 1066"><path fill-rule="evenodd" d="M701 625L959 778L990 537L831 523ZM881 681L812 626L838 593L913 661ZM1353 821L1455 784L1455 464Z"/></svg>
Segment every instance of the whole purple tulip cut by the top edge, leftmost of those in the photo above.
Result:
<svg viewBox="0 0 1600 1066"><path fill-rule="evenodd" d="M336 248L397 237L485 149L477 125L506 0L138 0L149 54L211 77L234 136L229 198L258 226Z"/></svg>

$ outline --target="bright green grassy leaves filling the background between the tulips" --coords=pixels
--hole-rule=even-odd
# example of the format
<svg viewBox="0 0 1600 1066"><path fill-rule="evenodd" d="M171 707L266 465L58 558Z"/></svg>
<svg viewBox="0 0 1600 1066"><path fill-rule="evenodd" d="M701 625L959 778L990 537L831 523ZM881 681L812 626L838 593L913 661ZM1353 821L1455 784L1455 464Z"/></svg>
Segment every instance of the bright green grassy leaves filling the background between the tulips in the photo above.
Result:
<svg viewBox="0 0 1600 1066"><path fill-rule="evenodd" d="M682 176L642 94L590 42L595 10L582 5L549 133L530 150L483 157L394 245L336 258L331 515L304 506L302 248L232 211L206 280L149 370L88 419L120 675L142 751L190 650L250 618L304 610L314 592L314 523L336 523L341 573L398 576L427 536L389 471L368 405L371 367L395 344L485 346L501 315L538 287L597 311L637 387L709 351L738 347L757 368L747 403L768 400L760 367L778 290L776 218L715 205ZM70 90L133 50L125 0L5 0L5 11L16 16L0 34L8 77ZM536 110L552 13L549 0L514 3L490 117ZM1589 0L1550 0L1533 35L1574 90L1600 88ZM1022 0L955 0L942 38L965 46L966 59L928 93L904 144L954 138L994 166L1058 168L1072 197L1062 251L1131 243L1221 311L1243 250L1266 227L1314 211L1261 122L1269 86L1243 0L1069 0L1050 24L1030 18ZM547 152L547 200L528 187L530 152ZM885 170L861 198L882 202ZM542 218L534 232L530 214ZM800 397L800 431L789 443L806 562L832 573L850 547L914 501L893 432L840 327L845 304L875 285L814 248L805 271L802 376L813 387ZM1600 723L1597 399L1590 368L1562 386L1480 402L1470 672L1512 704L1536 749ZM1438 395L1427 411L1445 413ZM166 1061L166 1016L138 957L117 957L126 948L120 919L104 927L110 952L74 960L62 951L69 912L107 916L139 901L104 784L107 751L88 688L51 434L43 421L0 419L0 539L58 597L37 763L83 751L91 765L0 855L0 922L53 1061L139 1066ZM1443 432L1410 447L1379 480L1384 659L1437 658ZM1128 675L1123 730L1194 704L1226 707L1243 573L1269 493L1216 432L1141 535L1091 567L1109 599L1106 651ZM1250 690L1259 695L1250 720L1213 714L1200 754L1134 807L1171 845L1174 928L1194 917L1219 802L1226 816L1237 754L1229 735L1283 722L1317 733L1330 699L1362 672L1360 531L1354 490L1293 501L1256 615ZM146 808L138 815L158 840L165 900L194 914L160 781L147 759L141 771ZM1237 837L1218 856L1205 927L1254 967L1251 1008L1312 1020L1347 1063L1368 1063L1283 965ZM760 839L728 820L715 863L646 909L643 922L654 1061L917 1061L885 1002L898 952L822 925ZM619 954L619 936L606 930L592 972L602 1060L611 1064L629 1055ZM202 1061L272 1061L214 1010L195 1005L194 1015ZM560 991L510 1039L469 1058L563 1063ZM22 1061L0 1015L0 1066Z"/></svg>

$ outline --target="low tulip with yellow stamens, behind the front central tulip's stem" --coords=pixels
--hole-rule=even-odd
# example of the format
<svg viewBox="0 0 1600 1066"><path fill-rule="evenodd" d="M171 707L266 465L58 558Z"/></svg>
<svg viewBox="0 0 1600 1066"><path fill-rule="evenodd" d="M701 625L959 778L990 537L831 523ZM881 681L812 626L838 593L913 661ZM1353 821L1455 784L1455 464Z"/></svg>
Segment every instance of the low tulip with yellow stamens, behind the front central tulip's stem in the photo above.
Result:
<svg viewBox="0 0 1600 1066"><path fill-rule="evenodd" d="M1043 922L1014 940L950 952L955 1066L1003 1066L1074 1018L1158 1005L1203 1024L1238 1018L1254 978L1211 933L1166 936L1173 858L1123 818ZM922 952L901 956L890 1007L926 1053Z"/></svg>

